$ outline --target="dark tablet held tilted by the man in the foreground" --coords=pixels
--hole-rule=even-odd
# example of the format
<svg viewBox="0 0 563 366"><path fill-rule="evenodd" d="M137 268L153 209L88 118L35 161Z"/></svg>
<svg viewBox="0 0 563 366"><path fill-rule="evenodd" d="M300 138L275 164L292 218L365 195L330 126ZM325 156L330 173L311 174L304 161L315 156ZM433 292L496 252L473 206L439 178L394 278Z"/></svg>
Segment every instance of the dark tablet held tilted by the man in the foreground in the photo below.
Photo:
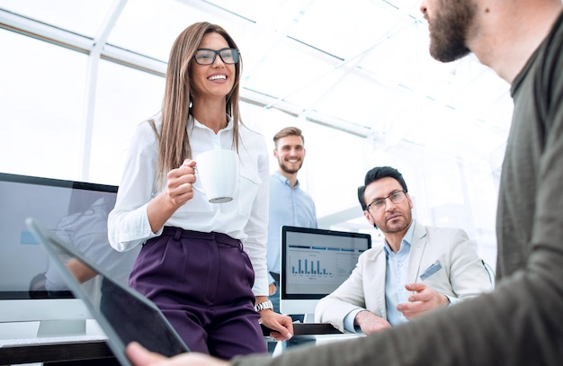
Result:
<svg viewBox="0 0 563 366"><path fill-rule="evenodd" d="M188 352L188 347L156 305L136 290L114 281L96 264L91 263L76 248L52 235L35 219L27 219L33 236L49 253L49 259L60 271L63 280L87 308L107 335L113 354L121 365L130 365L125 348L138 342L148 350L167 357ZM101 298L88 293L82 286L80 269L96 274L102 282Z"/></svg>

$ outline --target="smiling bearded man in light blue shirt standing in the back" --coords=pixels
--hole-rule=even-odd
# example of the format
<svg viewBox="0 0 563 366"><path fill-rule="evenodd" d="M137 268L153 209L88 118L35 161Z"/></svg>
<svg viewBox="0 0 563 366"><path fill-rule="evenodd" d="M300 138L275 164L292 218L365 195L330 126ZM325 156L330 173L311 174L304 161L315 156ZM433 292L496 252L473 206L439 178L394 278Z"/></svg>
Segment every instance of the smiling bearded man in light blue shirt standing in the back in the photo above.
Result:
<svg viewBox="0 0 563 366"><path fill-rule="evenodd" d="M270 175L270 219L266 260L270 300L280 311L281 227L317 228L315 202L299 187L297 173L305 159L305 138L297 127L281 129L273 137L278 170Z"/></svg>

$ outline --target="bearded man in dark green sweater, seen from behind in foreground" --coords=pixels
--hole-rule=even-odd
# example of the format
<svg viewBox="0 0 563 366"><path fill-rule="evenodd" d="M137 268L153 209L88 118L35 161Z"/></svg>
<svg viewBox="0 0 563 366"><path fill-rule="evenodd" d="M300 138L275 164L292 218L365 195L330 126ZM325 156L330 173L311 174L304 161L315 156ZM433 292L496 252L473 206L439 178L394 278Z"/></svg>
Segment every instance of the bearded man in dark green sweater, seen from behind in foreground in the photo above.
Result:
<svg viewBox="0 0 563 366"><path fill-rule="evenodd" d="M563 4L561 0L423 0L431 52L472 51L512 85L514 117L496 219L490 293L366 337L234 365L563 364ZM200 354L163 362L139 344L136 366L221 365Z"/></svg>

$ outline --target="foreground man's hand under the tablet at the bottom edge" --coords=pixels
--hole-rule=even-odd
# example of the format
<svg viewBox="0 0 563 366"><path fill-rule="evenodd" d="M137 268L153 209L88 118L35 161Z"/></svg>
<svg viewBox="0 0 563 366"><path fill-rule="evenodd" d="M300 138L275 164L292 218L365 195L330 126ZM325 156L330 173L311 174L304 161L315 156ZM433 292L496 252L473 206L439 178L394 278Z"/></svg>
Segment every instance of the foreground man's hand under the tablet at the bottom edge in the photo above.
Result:
<svg viewBox="0 0 563 366"><path fill-rule="evenodd" d="M134 366L227 366L222 361L203 353L182 353L172 358L147 351L142 345L132 342L127 345L125 354Z"/></svg>

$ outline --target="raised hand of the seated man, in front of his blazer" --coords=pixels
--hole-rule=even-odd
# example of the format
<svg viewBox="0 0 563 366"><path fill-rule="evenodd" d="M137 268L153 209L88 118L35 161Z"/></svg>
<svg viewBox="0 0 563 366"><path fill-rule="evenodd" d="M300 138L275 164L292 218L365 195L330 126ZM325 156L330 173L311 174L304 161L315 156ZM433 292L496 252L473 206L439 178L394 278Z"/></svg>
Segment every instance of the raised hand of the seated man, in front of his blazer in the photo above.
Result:
<svg viewBox="0 0 563 366"><path fill-rule="evenodd" d="M405 285L405 289L416 292L408 297L407 303L397 306L398 311L403 313L407 319L419 317L434 308L440 308L450 303L445 295L432 290L424 283L409 283Z"/></svg>

